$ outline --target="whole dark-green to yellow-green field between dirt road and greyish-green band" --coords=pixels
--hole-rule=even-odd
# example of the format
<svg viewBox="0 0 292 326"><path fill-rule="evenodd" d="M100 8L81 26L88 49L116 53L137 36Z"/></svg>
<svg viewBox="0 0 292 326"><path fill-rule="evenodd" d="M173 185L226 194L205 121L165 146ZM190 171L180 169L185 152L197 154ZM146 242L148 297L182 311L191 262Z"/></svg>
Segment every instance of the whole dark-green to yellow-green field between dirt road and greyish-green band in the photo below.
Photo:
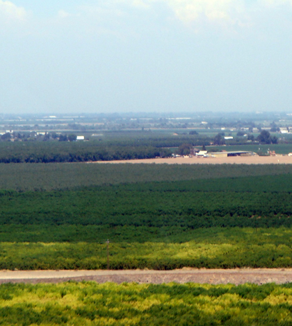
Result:
<svg viewBox="0 0 292 326"><path fill-rule="evenodd" d="M292 266L291 167L277 167L286 174L3 190L0 268L106 268L106 239L113 269Z"/></svg>

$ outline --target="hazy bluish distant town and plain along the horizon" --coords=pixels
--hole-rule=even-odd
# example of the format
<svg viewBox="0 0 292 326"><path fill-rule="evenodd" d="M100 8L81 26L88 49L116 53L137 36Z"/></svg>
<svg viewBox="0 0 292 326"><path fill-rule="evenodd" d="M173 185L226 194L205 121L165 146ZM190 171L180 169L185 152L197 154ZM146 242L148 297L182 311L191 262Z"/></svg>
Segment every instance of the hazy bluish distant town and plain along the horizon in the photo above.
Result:
<svg viewBox="0 0 292 326"><path fill-rule="evenodd" d="M204 112L0 115L1 141L88 141L108 132L158 132L160 135L200 135L211 144L258 141L266 130L270 143L292 141L292 113ZM158 134L158 135L159 135ZM215 138L217 136L217 139ZM213 141L212 141L213 139ZM208 145L208 144L207 144Z"/></svg>

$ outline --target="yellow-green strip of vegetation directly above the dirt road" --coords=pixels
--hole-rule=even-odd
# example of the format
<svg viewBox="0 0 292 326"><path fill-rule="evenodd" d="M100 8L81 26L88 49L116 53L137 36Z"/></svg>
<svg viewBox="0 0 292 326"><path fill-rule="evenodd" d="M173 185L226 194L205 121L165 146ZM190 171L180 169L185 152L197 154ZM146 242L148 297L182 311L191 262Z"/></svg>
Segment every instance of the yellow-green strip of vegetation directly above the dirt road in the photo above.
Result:
<svg viewBox="0 0 292 326"><path fill-rule="evenodd" d="M176 239L177 237L177 239ZM165 241L110 243L111 269L292 267L288 228L210 228ZM106 269L106 244L0 243L1 269Z"/></svg>

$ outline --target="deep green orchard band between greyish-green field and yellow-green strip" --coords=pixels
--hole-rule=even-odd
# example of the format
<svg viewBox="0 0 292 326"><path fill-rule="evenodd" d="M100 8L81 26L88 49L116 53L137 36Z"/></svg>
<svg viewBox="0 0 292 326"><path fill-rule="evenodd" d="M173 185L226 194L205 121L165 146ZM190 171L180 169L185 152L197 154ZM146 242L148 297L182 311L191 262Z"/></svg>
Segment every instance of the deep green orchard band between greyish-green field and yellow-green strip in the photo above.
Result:
<svg viewBox="0 0 292 326"><path fill-rule="evenodd" d="M0 225L263 228L290 226L291 215L292 175L0 194Z"/></svg>

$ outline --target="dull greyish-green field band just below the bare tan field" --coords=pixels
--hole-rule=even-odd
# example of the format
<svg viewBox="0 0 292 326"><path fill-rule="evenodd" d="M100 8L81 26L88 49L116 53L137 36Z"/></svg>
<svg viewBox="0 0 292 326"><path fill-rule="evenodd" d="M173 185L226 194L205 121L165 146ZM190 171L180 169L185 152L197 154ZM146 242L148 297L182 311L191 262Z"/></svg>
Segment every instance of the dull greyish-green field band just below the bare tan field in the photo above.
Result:
<svg viewBox="0 0 292 326"><path fill-rule="evenodd" d="M292 164L0 164L0 189L51 191L121 183L286 175ZM213 184L216 181L213 181Z"/></svg>

